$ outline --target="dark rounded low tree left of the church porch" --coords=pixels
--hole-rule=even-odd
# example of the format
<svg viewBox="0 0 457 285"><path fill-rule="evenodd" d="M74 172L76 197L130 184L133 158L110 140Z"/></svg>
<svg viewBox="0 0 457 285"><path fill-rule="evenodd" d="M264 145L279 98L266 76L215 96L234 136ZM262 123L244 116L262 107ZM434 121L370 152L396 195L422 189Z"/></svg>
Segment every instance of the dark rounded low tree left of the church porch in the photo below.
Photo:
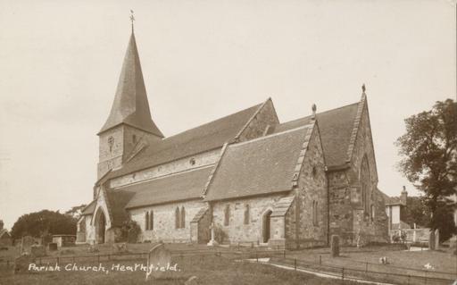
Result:
<svg viewBox="0 0 457 285"><path fill-rule="evenodd" d="M77 220L71 215L42 210L40 212L21 215L12 225L12 238L23 236L41 238L49 234L76 234Z"/></svg>

